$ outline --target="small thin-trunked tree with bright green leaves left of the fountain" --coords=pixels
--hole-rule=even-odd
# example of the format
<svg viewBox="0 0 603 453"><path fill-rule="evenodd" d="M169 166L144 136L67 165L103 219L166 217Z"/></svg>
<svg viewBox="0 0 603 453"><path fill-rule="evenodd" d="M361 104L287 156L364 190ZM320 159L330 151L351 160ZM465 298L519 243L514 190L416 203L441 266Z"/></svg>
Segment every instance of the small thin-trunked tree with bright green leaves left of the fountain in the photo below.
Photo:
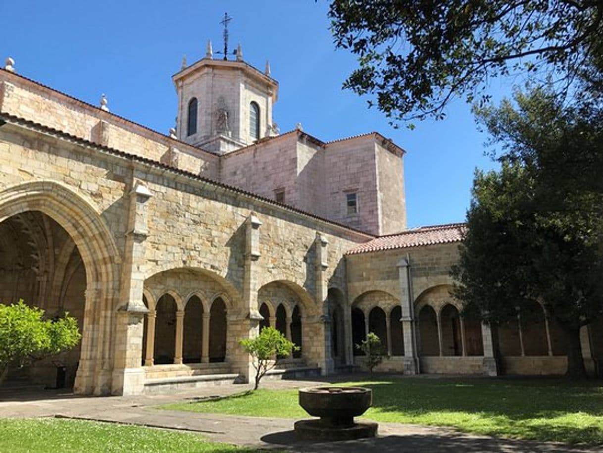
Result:
<svg viewBox="0 0 603 453"><path fill-rule="evenodd" d="M253 390L257 390L260 380L276 366L280 357L286 357L299 349L273 327L265 327L257 337L246 338L239 341L239 344L253 357L253 367L256 370Z"/></svg>

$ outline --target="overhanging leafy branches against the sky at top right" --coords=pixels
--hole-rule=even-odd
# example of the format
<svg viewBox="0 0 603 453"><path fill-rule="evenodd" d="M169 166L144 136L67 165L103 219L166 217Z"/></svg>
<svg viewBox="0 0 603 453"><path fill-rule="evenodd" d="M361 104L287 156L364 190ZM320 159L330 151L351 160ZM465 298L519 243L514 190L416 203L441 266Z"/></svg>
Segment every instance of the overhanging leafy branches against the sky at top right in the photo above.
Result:
<svg viewBox="0 0 603 453"><path fill-rule="evenodd" d="M554 74L558 94L576 78L582 97L603 92L601 0L333 0L329 16L336 47L358 56L344 87L393 122L487 100L491 77Z"/></svg>

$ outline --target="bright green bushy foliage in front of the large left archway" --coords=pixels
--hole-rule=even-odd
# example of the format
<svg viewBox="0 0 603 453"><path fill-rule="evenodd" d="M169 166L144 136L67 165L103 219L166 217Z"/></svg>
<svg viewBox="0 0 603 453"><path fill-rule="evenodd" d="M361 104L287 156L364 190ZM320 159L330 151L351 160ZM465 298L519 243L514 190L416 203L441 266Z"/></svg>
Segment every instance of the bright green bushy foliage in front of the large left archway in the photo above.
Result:
<svg viewBox="0 0 603 453"><path fill-rule="evenodd" d="M10 368L21 368L33 361L71 349L80 342L77 320L43 319L44 311L25 305L22 299L11 305L0 304L0 382Z"/></svg>

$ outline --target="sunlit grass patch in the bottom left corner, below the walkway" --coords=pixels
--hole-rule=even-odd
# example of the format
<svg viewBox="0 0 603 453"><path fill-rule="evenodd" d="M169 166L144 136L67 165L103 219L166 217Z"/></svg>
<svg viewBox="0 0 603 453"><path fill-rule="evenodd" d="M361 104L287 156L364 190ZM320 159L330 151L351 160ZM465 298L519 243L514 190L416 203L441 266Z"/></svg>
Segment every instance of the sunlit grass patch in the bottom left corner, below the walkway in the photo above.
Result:
<svg viewBox="0 0 603 453"><path fill-rule="evenodd" d="M0 419L0 451L252 452L190 432L66 419Z"/></svg>

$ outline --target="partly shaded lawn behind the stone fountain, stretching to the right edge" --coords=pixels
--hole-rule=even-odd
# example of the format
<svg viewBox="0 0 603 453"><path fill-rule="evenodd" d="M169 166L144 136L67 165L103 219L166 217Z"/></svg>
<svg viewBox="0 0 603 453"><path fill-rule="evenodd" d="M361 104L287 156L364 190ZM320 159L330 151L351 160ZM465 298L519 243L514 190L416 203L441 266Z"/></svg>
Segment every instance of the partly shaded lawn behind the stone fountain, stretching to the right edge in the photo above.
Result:
<svg viewBox="0 0 603 453"><path fill-rule="evenodd" d="M601 381L402 378L343 385L373 389L365 417L380 422L452 426L460 431L566 443L603 443ZM184 410L303 418L297 390L257 390L213 401L171 404Z"/></svg>

